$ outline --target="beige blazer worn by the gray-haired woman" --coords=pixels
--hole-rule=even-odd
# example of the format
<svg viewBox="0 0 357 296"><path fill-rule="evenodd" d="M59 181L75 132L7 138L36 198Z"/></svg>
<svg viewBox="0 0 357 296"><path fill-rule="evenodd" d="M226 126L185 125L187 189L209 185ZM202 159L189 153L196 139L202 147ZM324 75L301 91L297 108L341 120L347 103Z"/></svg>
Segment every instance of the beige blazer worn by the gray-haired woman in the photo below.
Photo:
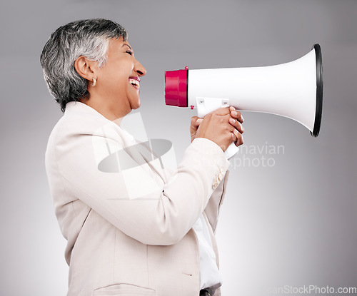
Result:
<svg viewBox="0 0 357 296"><path fill-rule="evenodd" d="M143 164L146 156L132 150L134 168L99 170L130 142L116 123L79 102L67 104L51 133L46 172L68 240L68 296L198 296L192 225L203 213L218 260L213 233L229 162L216 143L197 138L175 173L158 159Z"/></svg>

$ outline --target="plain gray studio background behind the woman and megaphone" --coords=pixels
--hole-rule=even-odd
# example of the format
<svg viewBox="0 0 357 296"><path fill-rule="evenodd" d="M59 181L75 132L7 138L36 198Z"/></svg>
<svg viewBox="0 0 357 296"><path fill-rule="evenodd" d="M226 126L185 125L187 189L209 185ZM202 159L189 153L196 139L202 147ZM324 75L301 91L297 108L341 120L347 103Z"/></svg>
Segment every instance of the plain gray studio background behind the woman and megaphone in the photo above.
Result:
<svg viewBox="0 0 357 296"><path fill-rule="evenodd" d="M347 0L1 1L0 295L66 295L66 242L44 170L61 111L46 89L39 55L57 27L94 17L129 31L147 69L140 108L146 132L174 142L178 160L196 113L164 105L164 71L269 66L321 44L318 138L290 119L243 113L248 148L284 150L264 154L273 158L271 167L237 165L259 153L232 160L217 230L222 289L268 295L285 285L356 287L356 14L357 1Z"/></svg>

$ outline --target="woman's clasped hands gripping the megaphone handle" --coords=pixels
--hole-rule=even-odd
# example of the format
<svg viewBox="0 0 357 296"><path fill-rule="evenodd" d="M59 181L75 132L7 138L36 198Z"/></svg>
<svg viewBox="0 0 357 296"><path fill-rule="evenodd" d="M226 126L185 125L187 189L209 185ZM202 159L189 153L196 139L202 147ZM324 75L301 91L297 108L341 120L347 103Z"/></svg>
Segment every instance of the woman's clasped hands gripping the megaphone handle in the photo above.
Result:
<svg viewBox="0 0 357 296"><path fill-rule="evenodd" d="M244 131L241 123L243 123L243 116L234 107L218 108L204 118L193 116L190 127L191 141L195 138L208 138L223 151L233 142L236 146L240 146L243 144L241 134Z"/></svg>

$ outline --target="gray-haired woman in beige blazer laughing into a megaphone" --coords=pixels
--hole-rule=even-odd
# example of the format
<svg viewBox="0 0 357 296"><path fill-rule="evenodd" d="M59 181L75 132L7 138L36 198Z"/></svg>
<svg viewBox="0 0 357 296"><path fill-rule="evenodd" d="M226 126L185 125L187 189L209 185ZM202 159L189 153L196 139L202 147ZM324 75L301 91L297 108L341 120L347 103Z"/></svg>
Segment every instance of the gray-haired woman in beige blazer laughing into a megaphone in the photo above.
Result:
<svg viewBox="0 0 357 296"><path fill-rule="evenodd" d="M221 108L193 117L192 143L169 175L142 150L127 149L136 141L121 118L139 108L146 69L123 27L105 19L61 26L41 65L64 111L46 171L68 240L68 295L220 295L213 233L229 165L223 151L243 142L241 114ZM136 167L124 170L119 158L110 173L99 168L123 151Z"/></svg>

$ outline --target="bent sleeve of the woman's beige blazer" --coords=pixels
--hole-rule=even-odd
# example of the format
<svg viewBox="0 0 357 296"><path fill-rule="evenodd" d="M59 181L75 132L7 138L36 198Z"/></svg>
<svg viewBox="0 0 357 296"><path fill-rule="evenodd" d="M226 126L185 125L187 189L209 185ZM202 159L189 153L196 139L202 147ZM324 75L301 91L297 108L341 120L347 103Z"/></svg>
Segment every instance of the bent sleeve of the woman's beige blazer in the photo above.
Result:
<svg viewBox="0 0 357 296"><path fill-rule="evenodd" d="M70 126L56 128L46 150L57 218L65 220L61 217L67 215L64 206L79 199L126 235L147 245L172 245L181 240L206 208L229 165L216 143L196 138L166 183L159 182L148 169L150 163L106 173L99 170L94 150L99 143L110 146L111 151L122 150L120 139L69 130ZM144 195L133 198L133 193L143 191Z"/></svg>

